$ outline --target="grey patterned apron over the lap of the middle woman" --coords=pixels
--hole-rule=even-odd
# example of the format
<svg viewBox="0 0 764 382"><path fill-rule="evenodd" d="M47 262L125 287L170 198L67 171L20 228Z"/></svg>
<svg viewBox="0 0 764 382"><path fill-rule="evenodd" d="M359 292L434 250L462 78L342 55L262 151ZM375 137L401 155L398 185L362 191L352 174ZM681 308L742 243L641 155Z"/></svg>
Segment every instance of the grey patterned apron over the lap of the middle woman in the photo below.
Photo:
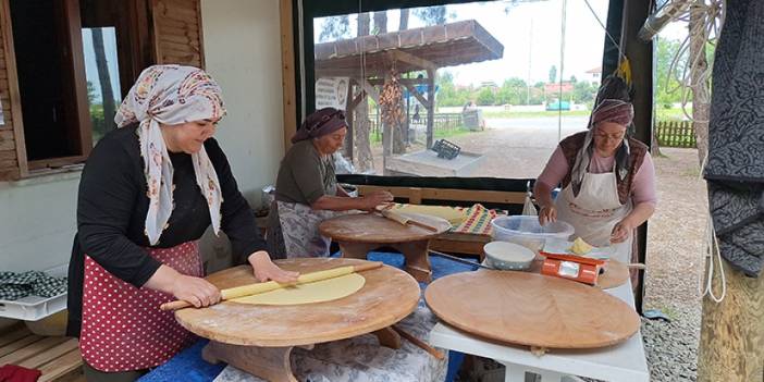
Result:
<svg viewBox="0 0 764 382"><path fill-rule="evenodd" d="M286 258L328 257L331 238L321 236L319 224L335 215L298 202L276 201Z"/></svg>

